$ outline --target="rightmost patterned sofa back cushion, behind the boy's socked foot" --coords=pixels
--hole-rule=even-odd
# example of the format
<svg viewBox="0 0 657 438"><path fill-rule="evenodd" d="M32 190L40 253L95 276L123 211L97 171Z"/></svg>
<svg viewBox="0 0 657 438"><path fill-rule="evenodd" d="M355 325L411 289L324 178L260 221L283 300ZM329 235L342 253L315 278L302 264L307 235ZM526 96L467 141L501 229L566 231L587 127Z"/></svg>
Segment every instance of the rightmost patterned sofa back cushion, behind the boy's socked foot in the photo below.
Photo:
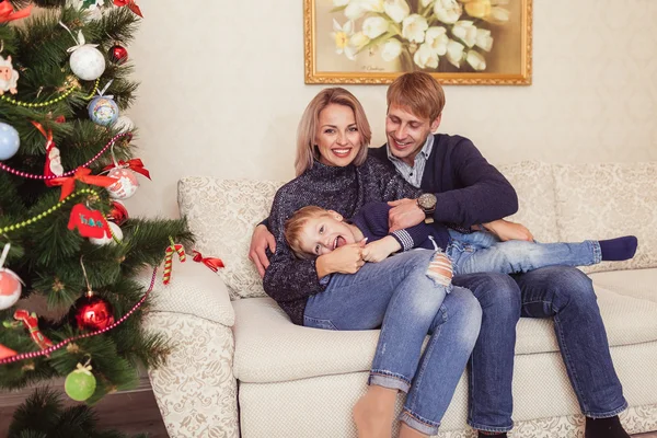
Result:
<svg viewBox="0 0 657 438"><path fill-rule="evenodd" d="M657 162L555 164L553 169L561 240L638 238L631 261L604 262L583 270L657 267Z"/></svg>

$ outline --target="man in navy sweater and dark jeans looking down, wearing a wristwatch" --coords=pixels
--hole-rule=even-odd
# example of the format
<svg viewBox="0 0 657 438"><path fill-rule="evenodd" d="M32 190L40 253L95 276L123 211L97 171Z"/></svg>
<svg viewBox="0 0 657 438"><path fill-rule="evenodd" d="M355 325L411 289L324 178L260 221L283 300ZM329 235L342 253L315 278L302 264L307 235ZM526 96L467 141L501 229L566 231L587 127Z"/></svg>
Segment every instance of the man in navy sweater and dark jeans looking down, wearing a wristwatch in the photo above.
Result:
<svg viewBox="0 0 657 438"><path fill-rule="evenodd" d="M425 194L391 203L391 230L422 220L460 229L486 228L500 240L531 240L525 227L487 222L512 215L516 192L466 138L433 135L440 125L445 94L423 72L399 77L388 90L388 143L370 153L394 165ZM250 257L261 274L273 238L260 226ZM627 407L613 369L609 344L590 279L570 267L546 267L510 277L457 276L453 284L479 299L483 320L470 361L468 423L480 438L506 437L512 428L511 380L516 324L520 316L553 318L568 377L586 418L586 438L629 438L618 414Z"/></svg>

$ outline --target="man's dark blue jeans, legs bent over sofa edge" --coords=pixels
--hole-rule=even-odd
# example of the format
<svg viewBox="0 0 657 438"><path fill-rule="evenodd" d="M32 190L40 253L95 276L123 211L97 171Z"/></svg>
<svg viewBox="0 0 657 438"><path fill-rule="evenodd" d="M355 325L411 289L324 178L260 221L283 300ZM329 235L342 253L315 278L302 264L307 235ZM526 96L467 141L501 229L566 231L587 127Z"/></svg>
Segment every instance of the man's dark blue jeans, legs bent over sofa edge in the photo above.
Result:
<svg viewBox="0 0 657 438"><path fill-rule="evenodd" d="M627 406L613 369L591 280L573 267L526 274L470 274L453 284L479 299L482 327L470 360L468 423L480 430L512 428L511 379L516 324L520 316L553 318L562 357L581 412L611 417ZM537 380L535 392L543 392Z"/></svg>

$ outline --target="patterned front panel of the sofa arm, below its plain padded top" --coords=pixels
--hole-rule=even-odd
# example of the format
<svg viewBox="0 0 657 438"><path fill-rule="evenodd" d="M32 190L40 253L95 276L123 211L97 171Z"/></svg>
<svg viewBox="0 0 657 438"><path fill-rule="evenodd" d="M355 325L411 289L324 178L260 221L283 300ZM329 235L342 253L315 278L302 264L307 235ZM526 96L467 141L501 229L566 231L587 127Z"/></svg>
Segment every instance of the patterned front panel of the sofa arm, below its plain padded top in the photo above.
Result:
<svg viewBox="0 0 657 438"><path fill-rule="evenodd" d="M165 364L148 371L168 435L239 438L231 328L166 311L149 312L145 323L173 344Z"/></svg>

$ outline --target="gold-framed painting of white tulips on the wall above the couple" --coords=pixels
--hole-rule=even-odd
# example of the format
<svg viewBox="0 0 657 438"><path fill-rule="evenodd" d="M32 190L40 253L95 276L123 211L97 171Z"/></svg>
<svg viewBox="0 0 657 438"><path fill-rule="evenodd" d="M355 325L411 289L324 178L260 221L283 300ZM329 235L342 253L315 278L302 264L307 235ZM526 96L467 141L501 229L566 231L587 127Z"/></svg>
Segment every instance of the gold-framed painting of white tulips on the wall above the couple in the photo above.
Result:
<svg viewBox="0 0 657 438"><path fill-rule="evenodd" d="M532 0L303 0L306 83L531 84Z"/></svg>

